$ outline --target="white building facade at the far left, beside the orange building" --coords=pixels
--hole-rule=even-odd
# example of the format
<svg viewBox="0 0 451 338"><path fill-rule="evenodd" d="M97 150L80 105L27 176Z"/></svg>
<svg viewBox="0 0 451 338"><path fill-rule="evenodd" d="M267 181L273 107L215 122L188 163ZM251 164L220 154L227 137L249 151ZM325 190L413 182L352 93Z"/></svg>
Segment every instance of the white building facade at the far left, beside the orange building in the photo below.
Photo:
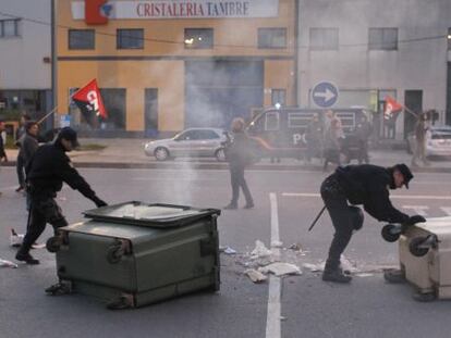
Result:
<svg viewBox="0 0 451 338"><path fill-rule="evenodd" d="M0 0L0 116L51 104L51 1Z"/></svg>

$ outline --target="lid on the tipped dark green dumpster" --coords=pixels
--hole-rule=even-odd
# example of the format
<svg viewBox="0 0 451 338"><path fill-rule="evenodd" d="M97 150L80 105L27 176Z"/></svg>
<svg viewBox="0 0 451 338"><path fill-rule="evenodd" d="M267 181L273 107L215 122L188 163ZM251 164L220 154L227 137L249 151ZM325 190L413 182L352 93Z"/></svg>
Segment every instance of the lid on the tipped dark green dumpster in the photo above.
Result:
<svg viewBox="0 0 451 338"><path fill-rule="evenodd" d="M150 227L179 227L208 215L219 215L220 210L130 201L87 210L83 214L85 217L102 222Z"/></svg>

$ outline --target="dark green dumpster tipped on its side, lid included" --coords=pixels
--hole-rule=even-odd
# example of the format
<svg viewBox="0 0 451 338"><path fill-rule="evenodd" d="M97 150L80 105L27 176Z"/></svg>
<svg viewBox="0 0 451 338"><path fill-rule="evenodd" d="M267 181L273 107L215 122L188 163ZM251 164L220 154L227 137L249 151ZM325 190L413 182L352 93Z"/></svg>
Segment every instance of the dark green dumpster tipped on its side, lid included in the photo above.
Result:
<svg viewBox="0 0 451 338"><path fill-rule="evenodd" d="M84 214L90 220L60 228L47 243L60 279L48 293L78 292L124 309L219 290L219 210L132 201Z"/></svg>

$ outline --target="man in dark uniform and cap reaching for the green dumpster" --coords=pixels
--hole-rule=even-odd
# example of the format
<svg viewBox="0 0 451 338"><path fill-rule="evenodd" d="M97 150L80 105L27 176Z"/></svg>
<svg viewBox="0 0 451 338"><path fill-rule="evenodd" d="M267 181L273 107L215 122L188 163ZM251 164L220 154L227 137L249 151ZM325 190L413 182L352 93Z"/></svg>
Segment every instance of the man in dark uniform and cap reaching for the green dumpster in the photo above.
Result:
<svg viewBox="0 0 451 338"><path fill-rule="evenodd" d="M26 180L32 204L27 231L15 255L17 261L27 264L39 264L39 261L29 254L29 249L42 234L46 224L50 223L56 233L58 228L68 225L68 221L65 221L60 206L54 200L57 192L62 188L63 181L90 199L98 208L107 205L72 166L69 157L65 154L66 151L73 150L77 145L75 130L64 127L54 142L39 147L28 162Z"/></svg>

